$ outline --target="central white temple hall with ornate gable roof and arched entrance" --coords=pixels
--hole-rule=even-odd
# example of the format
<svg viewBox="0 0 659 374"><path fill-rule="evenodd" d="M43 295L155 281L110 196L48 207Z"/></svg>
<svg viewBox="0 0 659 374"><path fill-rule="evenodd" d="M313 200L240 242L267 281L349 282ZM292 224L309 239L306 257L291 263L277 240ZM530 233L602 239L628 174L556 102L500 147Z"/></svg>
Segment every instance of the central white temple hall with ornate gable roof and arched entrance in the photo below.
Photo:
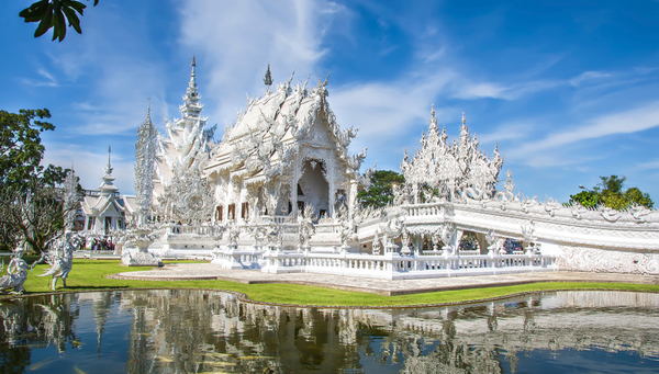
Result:
<svg viewBox="0 0 659 374"><path fill-rule="evenodd" d="M291 77L292 80L292 77ZM366 149L348 154L353 128L342 131L327 103L327 81L291 81L249 100L204 167L215 188L216 219L246 223L260 215L321 218L351 213Z"/></svg>

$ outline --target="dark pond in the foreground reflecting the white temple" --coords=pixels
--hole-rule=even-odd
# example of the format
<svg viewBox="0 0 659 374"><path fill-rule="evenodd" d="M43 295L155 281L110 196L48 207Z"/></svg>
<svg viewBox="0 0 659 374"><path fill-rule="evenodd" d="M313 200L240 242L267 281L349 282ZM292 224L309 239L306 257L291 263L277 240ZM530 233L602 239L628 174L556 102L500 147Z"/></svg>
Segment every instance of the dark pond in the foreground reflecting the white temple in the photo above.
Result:
<svg viewBox="0 0 659 374"><path fill-rule="evenodd" d="M316 309L158 290L0 302L2 373L656 373L659 294Z"/></svg>

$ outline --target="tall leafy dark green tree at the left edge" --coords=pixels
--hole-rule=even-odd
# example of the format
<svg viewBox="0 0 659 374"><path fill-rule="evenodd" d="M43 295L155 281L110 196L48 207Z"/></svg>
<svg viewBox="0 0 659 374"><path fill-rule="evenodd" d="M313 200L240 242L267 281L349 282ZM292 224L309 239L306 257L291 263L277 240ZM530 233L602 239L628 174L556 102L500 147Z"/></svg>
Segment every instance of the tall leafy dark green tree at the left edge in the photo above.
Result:
<svg viewBox="0 0 659 374"><path fill-rule="evenodd" d="M0 248L25 240L41 251L77 206L64 206L62 183L68 170L41 161L41 133L55 126L42 121L48 110L0 111Z"/></svg>

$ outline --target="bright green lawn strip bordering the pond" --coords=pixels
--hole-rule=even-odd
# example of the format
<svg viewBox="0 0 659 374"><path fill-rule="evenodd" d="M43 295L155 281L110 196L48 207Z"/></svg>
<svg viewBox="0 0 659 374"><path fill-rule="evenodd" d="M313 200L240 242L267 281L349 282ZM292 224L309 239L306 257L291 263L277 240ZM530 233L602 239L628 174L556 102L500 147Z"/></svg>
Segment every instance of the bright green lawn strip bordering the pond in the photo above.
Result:
<svg viewBox="0 0 659 374"><path fill-rule="evenodd" d="M189 262L189 261L188 261ZM49 277L36 276L46 265L37 265L25 282L27 294L51 292ZM129 290L129 288L206 288L227 290L246 294L250 299L266 303L316 306L411 306L479 301L535 291L554 290L629 290L659 292L659 285L630 283L543 282L504 287L485 287L429 292L402 296L380 296L360 292L331 290L295 284L242 284L227 281L120 281L105 275L144 271L145 268L126 268L118 260L74 260L67 288L58 281L57 291Z"/></svg>

